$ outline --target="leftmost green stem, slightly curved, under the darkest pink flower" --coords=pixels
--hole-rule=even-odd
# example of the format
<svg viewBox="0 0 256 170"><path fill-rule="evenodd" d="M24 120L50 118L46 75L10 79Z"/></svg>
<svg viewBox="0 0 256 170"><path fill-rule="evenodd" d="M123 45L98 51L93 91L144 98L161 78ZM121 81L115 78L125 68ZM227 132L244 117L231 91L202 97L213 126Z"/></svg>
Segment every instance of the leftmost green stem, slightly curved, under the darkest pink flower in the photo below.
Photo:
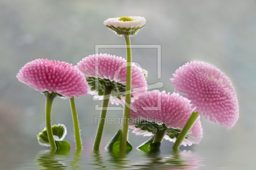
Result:
<svg viewBox="0 0 256 170"><path fill-rule="evenodd" d="M53 134L52 134L52 124L51 124L51 112L52 112L52 102L56 95L50 94L47 95L45 94L46 97L46 104L45 104L45 123L46 123L46 131L47 131L47 136L49 139L49 143L51 145L51 150L56 151L57 146L55 144Z"/></svg>

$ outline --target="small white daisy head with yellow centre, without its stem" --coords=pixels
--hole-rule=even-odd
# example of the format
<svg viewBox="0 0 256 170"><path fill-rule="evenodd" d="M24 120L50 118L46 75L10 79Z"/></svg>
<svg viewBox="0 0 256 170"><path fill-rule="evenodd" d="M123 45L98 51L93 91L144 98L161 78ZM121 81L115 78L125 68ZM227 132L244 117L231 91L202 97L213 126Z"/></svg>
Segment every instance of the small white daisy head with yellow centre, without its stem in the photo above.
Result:
<svg viewBox="0 0 256 170"><path fill-rule="evenodd" d="M146 19L144 17L117 17L108 18L104 21L104 25L118 35L134 35L145 26L145 23Z"/></svg>

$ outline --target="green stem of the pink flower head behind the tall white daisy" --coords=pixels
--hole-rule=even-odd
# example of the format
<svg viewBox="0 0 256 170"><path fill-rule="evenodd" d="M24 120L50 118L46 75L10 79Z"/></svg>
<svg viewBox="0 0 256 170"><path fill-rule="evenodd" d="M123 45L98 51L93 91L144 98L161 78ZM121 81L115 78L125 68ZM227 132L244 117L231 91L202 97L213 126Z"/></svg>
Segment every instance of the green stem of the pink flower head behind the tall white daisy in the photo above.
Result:
<svg viewBox="0 0 256 170"><path fill-rule="evenodd" d="M103 96L103 102L102 102L102 109L100 113L100 122L98 125L95 141L93 144L94 150L98 150L100 148L100 141L101 141L101 137L102 137L105 121L106 121L108 103L109 103L112 91L113 91L112 86L105 86L104 94L103 94L104 96Z"/></svg>

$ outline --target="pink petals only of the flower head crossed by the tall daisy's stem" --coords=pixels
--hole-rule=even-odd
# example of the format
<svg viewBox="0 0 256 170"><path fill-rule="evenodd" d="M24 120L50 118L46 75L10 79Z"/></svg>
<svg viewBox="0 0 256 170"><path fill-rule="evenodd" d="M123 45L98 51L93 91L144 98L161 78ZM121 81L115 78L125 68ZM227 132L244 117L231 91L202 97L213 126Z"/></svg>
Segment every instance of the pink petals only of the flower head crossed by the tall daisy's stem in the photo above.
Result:
<svg viewBox="0 0 256 170"><path fill-rule="evenodd" d="M84 74L85 78L100 78L126 85L126 60L122 57L115 55L96 54L85 57L82 61L77 63L78 69ZM132 99L133 102L141 94L147 92L147 81L141 69L132 63ZM89 93L94 95L95 98L103 99L103 96L97 96L98 92L91 91L89 86ZM116 97L116 96L115 96ZM120 98L124 99L124 96ZM118 98L110 99L112 104L124 105L124 101Z"/></svg>

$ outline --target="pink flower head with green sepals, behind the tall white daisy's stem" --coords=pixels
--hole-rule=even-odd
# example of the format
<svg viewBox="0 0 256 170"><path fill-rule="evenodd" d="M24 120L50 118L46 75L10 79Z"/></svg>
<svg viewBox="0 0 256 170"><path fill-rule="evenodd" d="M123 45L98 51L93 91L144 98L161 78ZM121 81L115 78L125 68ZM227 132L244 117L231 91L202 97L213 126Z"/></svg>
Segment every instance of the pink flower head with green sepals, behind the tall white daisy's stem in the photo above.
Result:
<svg viewBox="0 0 256 170"><path fill-rule="evenodd" d="M111 94L111 104L124 106L125 85L126 85L126 60L115 55L96 54L85 57L77 63L78 69L84 74L88 81L88 91L94 95L94 98L103 100L105 85L111 85L113 92ZM95 83L99 81L97 91ZM132 99L133 102L141 94L147 92L147 81L137 66L132 63Z"/></svg>

